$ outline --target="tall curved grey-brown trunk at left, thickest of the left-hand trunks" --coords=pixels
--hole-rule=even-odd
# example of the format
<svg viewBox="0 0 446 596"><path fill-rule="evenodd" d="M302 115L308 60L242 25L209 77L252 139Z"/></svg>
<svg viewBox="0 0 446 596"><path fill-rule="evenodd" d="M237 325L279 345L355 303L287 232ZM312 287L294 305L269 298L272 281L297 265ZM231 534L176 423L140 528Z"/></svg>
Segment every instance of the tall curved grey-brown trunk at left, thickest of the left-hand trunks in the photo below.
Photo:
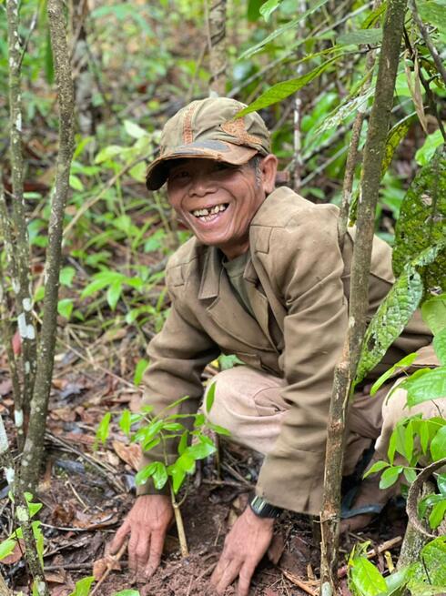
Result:
<svg viewBox="0 0 446 596"><path fill-rule="evenodd" d="M62 0L48 0L48 20L55 60L59 105L59 151L56 164L56 187L51 205L46 254L46 293L39 342L35 391L31 404L29 429L22 458L21 481L33 490L38 480L44 450L46 414L56 345L57 298L61 261L62 226L69 173L74 149L74 92Z"/></svg>

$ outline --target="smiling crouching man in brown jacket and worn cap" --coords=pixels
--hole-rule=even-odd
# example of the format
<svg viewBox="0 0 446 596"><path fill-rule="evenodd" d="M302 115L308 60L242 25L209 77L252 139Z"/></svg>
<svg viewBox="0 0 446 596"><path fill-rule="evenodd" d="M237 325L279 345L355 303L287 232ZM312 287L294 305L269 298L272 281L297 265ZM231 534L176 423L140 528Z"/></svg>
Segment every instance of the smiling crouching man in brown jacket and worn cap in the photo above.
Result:
<svg viewBox="0 0 446 596"><path fill-rule="evenodd" d="M160 156L148 167L147 187L167 182L168 200L194 237L169 260L172 308L149 346L145 380L155 411L188 395L180 406L185 413L198 409L201 372L219 353L236 354L246 365L218 373L208 417L265 455L257 496L228 533L211 579L222 594L238 578L238 595L247 596L279 511L320 510L330 389L348 325L354 231L341 253L337 207L275 189L278 161L267 127L256 113L235 118L242 107L226 98L192 102L167 122ZM370 317L392 281L390 248L376 238ZM417 315L373 377L430 339ZM365 385L359 389L345 474L380 435L384 393L370 399ZM366 482L352 513L380 510L387 497L379 492L376 478ZM150 482L138 495L112 548L117 551L130 534L130 565L149 577L172 508ZM356 516L362 523L369 518Z"/></svg>

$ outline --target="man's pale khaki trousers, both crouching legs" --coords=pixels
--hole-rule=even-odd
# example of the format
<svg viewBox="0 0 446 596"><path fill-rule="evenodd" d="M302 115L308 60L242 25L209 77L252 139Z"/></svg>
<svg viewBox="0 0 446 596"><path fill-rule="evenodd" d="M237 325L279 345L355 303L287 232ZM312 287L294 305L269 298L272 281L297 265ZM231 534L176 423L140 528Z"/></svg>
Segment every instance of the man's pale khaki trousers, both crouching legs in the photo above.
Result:
<svg viewBox="0 0 446 596"><path fill-rule="evenodd" d="M208 419L228 429L231 440L260 453L269 453L289 409L289 403L280 397L285 381L246 366L219 372L213 381L217 384L213 406L209 412L205 411ZM386 403L389 390L387 385L374 397L368 392L355 396L347 423L344 475L354 471L363 451L369 449L374 440L377 455L386 459L391 431L400 419L420 412L425 419L446 416L446 398L408 409L404 407L406 391L395 389Z"/></svg>

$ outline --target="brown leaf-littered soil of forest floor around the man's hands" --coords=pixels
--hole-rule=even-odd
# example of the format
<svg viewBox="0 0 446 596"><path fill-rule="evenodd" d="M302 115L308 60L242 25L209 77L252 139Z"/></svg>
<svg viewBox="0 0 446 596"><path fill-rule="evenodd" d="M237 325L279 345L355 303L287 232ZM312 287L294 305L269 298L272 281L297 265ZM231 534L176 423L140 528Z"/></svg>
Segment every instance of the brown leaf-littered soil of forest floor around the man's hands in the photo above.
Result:
<svg viewBox="0 0 446 596"><path fill-rule="evenodd" d="M116 338L114 338L116 340ZM102 343L102 342L101 342ZM43 470L35 500L44 504L40 512L45 540L46 580L51 596L68 596L76 581L98 573L106 544L112 539L134 500L135 468L138 448L129 445L117 423L105 446L95 450L96 429L106 411L118 415L122 409L137 411L140 390L127 383L124 361L117 366L115 341L102 343L104 358L91 362L79 359L79 353L66 349L56 359L56 371L46 434L46 468ZM119 374L112 372L119 369ZM110 369L106 366L109 365ZM10 382L5 361L0 360L0 408L12 436ZM117 419L117 416L114 420ZM213 462L208 462L188 487L182 506L190 556L182 559L175 526L169 530L160 568L147 582L138 583L127 570L127 555L116 564L96 594L112 596L117 591L139 590L141 596L204 596L212 593L208 579L218 561L225 535L245 508L258 474L258 460L248 450L220 445L220 479ZM7 487L0 490L2 538L13 530L11 504ZM342 538L340 565L357 542L371 540L371 546L401 536L405 520L400 511L385 510L359 535ZM258 567L250 594L279 596L316 594L319 572L319 545L316 530L306 516L284 514L277 524L276 536ZM314 534L314 535L313 535ZM398 546L396 547L398 549ZM391 554L395 556L397 550ZM381 571L389 556L378 557ZM21 547L0 565L8 587L28 591L28 576ZM342 573L342 571L341 571ZM343 592L346 587L345 568ZM302 590L303 589L303 590ZM233 588L227 594L235 594Z"/></svg>

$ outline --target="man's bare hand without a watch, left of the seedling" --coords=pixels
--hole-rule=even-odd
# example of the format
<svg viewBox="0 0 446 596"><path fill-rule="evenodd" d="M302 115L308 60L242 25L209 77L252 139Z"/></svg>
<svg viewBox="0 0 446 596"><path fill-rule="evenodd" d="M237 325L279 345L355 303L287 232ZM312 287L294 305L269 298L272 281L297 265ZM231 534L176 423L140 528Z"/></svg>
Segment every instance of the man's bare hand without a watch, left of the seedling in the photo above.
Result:
<svg viewBox="0 0 446 596"><path fill-rule="evenodd" d="M110 553L121 548L127 534L128 566L134 573L149 578L155 571L163 553L166 532L173 518L170 497L166 495L142 495L138 497L127 518L117 530L110 545Z"/></svg>

